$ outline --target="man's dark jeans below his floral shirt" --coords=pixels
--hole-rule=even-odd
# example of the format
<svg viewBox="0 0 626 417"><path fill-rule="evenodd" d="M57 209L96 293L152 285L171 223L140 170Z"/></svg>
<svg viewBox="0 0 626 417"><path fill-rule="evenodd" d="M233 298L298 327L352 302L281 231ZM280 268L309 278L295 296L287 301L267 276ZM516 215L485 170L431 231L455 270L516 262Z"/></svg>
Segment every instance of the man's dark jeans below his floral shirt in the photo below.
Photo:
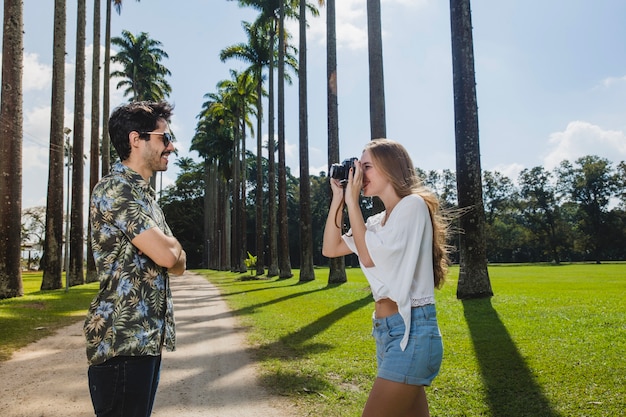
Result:
<svg viewBox="0 0 626 417"><path fill-rule="evenodd" d="M118 356L87 372L98 417L149 417L159 385L161 356Z"/></svg>

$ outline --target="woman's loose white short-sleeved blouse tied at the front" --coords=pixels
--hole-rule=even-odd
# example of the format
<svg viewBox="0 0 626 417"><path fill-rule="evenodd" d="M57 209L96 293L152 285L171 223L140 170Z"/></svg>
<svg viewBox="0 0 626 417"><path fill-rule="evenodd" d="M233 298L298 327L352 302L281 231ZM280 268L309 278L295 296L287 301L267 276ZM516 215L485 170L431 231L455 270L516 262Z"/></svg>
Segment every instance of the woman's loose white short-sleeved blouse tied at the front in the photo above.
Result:
<svg viewBox="0 0 626 417"><path fill-rule="evenodd" d="M426 203L416 194L404 197L383 225L385 212L367 219L365 244L374 266L361 269L372 289L374 301L389 298L398 304L405 333L400 347L409 340L411 307L435 303L433 229ZM352 230L343 235L358 255Z"/></svg>

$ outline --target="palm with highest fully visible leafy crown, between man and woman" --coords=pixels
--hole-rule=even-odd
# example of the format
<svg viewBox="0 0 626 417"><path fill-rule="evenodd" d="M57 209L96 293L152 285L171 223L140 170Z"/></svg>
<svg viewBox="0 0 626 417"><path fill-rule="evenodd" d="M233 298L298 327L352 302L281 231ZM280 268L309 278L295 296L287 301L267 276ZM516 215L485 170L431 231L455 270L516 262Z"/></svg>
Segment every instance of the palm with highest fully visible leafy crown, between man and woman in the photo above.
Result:
<svg viewBox="0 0 626 417"><path fill-rule="evenodd" d="M238 58L244 62L250 64L250 67L246 72L250 72L254 75L256 80L256 96L257 96L257 167L262 166L262 153L263 149L263 135L262 135L262 123L263 123L263 68L269 65L270 57L273 52L271 44L268 42L266 36L268 29L271 27L262 24L250 24L248 22L243 23L244 30L248 35L247 44L236 44L223 49L220 52L220 59L226 61L230 58ZM263 275L265 268L263 265L264 253L264 239L263 239L263 171L257 169L256 176L256 195L255 195L255 234L256 234L256 256L258 262L256 263L256 275Z"/></svg>

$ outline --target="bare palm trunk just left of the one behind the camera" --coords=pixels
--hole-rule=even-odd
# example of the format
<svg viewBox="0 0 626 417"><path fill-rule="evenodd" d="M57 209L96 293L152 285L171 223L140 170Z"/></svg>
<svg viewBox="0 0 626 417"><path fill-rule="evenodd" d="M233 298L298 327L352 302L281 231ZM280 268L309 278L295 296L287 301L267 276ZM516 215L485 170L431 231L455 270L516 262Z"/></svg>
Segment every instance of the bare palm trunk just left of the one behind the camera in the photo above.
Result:
<svg viewBox="0 0 626 417"><path fill-rule="evenodd" d="M311 219L311 182L309 180L309 121L306 73L306 2L300 1L300 282L313 281L313 226Z"/></svg>

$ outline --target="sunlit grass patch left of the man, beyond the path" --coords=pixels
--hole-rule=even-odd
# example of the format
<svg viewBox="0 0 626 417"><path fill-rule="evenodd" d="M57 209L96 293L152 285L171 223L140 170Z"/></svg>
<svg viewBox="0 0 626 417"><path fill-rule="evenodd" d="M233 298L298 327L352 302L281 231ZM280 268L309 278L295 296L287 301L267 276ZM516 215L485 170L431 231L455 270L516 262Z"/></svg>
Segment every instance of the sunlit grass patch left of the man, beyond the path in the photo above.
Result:
<svg viewBox="0 0 626 417"><path fill-rule="evenodd" d="M0 300L0 361L54 330L84 317L98 283L40 291L42 272L24 272L24 296ZM65 282L65 281L64 281Z"/></svg>

